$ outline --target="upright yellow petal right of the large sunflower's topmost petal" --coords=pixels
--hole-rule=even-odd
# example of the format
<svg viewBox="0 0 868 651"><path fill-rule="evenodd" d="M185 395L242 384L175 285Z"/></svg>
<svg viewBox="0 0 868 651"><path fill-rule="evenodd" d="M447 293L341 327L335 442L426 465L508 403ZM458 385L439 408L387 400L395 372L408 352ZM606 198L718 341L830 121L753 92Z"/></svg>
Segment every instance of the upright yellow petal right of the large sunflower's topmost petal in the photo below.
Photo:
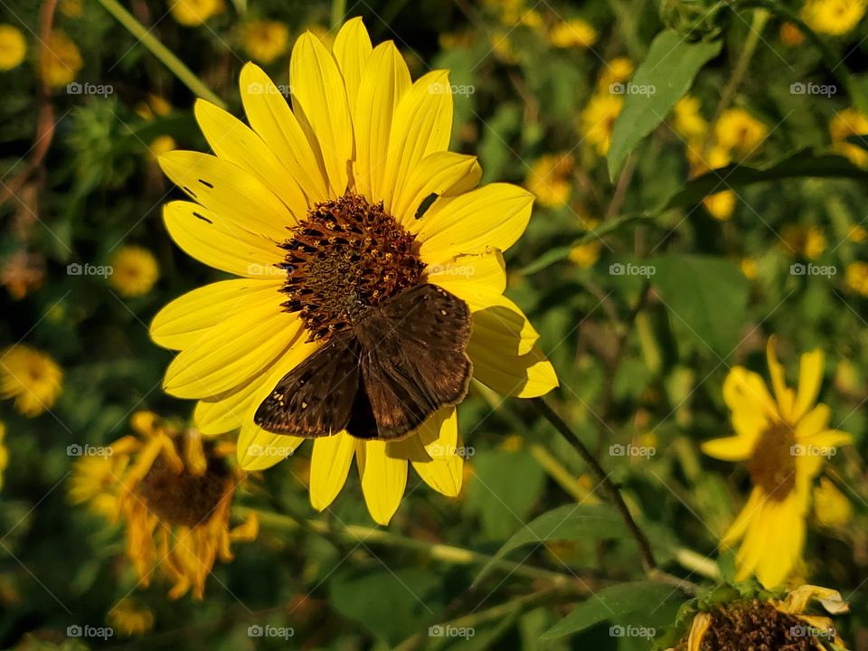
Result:
<svg viewBox="0 0 868 651"><path fill-rule="evenodd" d="M395 107L410 89L407 63L391 41L373 49L362 72L353 113L356 192L369 202L386 199L386 163ZM389 199L392 189L389 189Z"/></svg>

